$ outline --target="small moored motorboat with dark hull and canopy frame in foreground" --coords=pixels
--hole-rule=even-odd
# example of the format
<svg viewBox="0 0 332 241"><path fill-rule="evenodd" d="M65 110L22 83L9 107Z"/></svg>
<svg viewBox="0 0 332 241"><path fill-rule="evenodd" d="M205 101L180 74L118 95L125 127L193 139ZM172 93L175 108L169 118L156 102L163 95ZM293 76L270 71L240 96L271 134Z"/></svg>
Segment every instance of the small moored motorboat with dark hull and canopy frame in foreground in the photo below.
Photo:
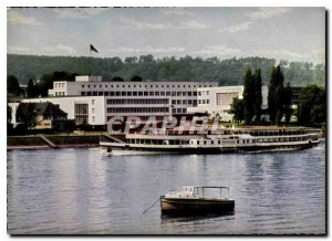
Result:
<svg viewBox="0 0 332 241"><path fill-rule="evenodd" d="M206 197L207 192L214 197ZM234 211L235 200L228 197L228 187L183 187L162 196L160 209L162 213L229 212Z"/></svg>

